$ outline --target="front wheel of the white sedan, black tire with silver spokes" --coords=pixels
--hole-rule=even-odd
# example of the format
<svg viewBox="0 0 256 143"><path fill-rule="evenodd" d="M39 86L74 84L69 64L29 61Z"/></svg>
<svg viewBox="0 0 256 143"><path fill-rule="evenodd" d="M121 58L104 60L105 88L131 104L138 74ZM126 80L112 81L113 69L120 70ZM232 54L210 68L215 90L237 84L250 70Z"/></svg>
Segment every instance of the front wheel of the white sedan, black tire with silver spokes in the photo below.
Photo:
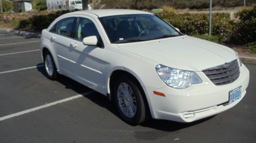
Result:
<svg viewBox="0 0 256 143"><path fill-rule="evenodd" d="M114 84L114 100L123 121L138 125L146 120L143 92L132 78L120 77Z"/></svg>

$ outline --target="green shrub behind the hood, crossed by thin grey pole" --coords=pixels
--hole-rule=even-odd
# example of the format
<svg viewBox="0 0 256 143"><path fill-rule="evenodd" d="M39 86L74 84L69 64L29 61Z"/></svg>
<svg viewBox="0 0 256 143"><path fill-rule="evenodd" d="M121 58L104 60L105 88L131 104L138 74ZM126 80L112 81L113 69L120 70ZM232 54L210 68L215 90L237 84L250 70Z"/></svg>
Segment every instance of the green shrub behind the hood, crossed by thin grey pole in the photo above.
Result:
<svg viewBox="0 0 256 143"><path fill-rule="evenodd" d="M208 14L176 14L173 11L163 9L162 13L157 15L165 19L170 24L179 28L180 31L187 35L203 35L209 31ZM229 14L216 13L212 15L212 35L218 36L219 41L226 41L233 29L233 22Z"/></svg>

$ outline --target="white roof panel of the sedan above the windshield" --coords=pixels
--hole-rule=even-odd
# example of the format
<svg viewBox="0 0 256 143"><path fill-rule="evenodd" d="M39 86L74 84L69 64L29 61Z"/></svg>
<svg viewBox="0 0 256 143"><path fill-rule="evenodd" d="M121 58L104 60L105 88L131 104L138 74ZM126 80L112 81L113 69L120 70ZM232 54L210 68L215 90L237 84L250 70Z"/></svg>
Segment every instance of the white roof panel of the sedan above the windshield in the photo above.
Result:
<svg viewBox="0 0 256 143"><path fill-rule="evenodd" d="M97 10L83 10L72 12L72 14L94 14L98 17L112 16L112 15L125 15L125 14L152 14L149 12L128 9L97 9Z"/></svg>

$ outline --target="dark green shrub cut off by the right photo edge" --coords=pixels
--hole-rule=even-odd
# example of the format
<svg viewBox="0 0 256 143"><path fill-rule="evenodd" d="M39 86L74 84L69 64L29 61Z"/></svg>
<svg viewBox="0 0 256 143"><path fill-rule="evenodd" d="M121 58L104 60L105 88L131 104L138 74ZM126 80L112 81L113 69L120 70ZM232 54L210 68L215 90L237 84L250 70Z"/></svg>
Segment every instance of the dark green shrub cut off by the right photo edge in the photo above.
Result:
<svg viewBox="0 0 256 143"><path fill-rule="evenodd" d="M230 37L232 43L247 44L256 41L256 7L242 9L236 14L239 22L234 23L233 33Z"/></svg>

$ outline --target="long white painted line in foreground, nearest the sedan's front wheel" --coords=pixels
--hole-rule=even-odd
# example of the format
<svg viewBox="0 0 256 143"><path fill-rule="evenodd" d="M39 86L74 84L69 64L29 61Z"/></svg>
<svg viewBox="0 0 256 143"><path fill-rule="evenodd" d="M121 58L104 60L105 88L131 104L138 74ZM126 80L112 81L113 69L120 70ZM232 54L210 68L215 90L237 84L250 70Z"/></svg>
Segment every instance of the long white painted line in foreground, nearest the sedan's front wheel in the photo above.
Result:
<svg viewBox="0 0 256 143"><path fill-rule="evenodd" d="M91 94L91 93L94 93L94 91L90 91L90 92L87 92L87 93L79 94L79 95L76 95L76 96L72 96L72 97L69 97L69 98L58 100L58 101L55 101L55 102L52 102L52 103L48 103L48 104L45 104L45 105L37 106L37 107L31 108L31 109L27 109L27 110L24 110L24 111L16 112L16 113L13 113L13 114L8 115L8 116L1 117L0 121L4 121L6 119L10 119L10 118L13 118L13 117L24 115L25 113L33 112L33 111L36 111L36 110L39 110L39 109L47 108L47 107L50 107L50 106L53 106L53 105L56 105L56 104L59 104L59 103L67 102L67 101L70 101L70 100L74 100L74 99L77 99L79 97L83 97L83 96L86 96L88 94Z"/></svg>

